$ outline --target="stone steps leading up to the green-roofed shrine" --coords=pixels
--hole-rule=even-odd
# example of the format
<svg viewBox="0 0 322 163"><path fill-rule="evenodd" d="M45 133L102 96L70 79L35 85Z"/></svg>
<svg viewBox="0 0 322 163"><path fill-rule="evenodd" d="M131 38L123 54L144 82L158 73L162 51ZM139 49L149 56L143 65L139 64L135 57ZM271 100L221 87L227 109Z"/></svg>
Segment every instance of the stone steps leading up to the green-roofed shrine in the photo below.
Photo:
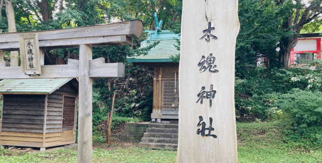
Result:
<svg viewBox="0 0 322 163"><path fill-rule="evenodd" d="M152 149L178 149L178 121L166 123L150 123L147 132L144 133L139 147Z"/></svg>

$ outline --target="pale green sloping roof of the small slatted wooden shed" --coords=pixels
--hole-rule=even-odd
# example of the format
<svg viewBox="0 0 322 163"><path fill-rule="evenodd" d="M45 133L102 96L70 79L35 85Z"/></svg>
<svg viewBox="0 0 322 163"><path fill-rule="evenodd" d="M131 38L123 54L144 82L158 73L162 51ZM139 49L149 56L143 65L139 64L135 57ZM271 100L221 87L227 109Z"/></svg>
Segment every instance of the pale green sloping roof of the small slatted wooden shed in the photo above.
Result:
<svg viewBox="0 0 322 163"><path fill-rule="evenodd" d="M72 79L5 79L0 81L0 94L51 94Z"/></svg>

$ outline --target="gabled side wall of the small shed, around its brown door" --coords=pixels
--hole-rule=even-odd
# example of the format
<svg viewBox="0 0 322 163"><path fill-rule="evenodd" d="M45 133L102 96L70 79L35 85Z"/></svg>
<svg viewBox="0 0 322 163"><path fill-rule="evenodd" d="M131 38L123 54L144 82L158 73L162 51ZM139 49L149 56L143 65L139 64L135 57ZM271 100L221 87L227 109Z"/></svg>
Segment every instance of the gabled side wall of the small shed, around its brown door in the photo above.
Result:
<svg viewBox="0 0 322 163"><path fill-rule="evenodd" d="M65 132L62 130L64 96L77 98L77 94L78 91L76 88L71 84L71 82L68 82L52 94L48 95L44 147L75 143L75 136L71 141L64 142L61 135Z"/></svg>

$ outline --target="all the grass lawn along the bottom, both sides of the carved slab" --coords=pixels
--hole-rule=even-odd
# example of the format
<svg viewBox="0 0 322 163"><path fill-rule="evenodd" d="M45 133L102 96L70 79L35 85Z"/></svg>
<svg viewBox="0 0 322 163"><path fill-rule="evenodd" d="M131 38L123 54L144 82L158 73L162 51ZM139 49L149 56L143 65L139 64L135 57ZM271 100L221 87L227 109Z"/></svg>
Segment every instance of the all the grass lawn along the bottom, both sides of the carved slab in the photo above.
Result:
<svg viewBox="0 0 322 163"><path fill-rule="evenodd" d="M238 162L322 162L322 147L303 149L286 144L281 122L237 123ZM93 151L93 162L176 162L176 151L118 146ZM77 162L76 149L44 153L0 150L0 162Z"/></svg>

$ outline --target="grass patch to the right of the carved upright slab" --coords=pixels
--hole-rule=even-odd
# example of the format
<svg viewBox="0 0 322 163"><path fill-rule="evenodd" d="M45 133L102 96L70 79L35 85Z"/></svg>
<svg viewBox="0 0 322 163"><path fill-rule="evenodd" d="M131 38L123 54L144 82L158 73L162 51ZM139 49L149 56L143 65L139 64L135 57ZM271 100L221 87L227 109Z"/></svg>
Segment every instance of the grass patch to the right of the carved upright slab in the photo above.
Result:
<svg viewBox="0 0 322 163"><path fill-rule="evenodd" d="M285 143L283 126L279 121L237 123L238 162L322 162L321 147L305 149Z"/></svg>

